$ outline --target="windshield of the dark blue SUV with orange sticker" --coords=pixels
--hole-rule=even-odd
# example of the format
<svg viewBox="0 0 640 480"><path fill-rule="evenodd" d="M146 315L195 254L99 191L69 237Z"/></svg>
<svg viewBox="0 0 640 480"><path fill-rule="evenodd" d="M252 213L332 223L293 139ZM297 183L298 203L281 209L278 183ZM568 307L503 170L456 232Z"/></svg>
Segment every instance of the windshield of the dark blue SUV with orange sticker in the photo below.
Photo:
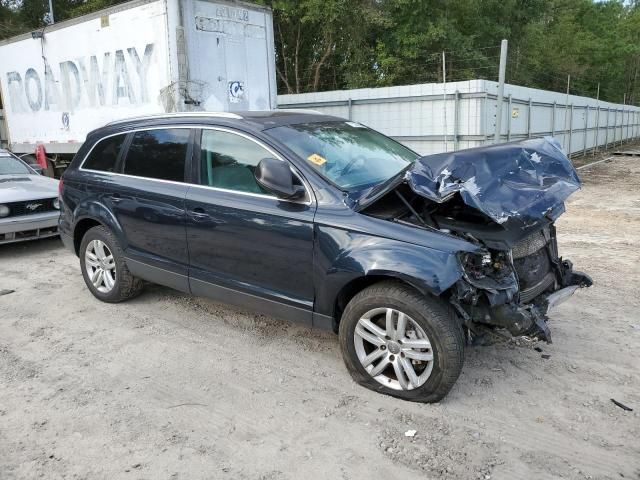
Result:
<svg viewBox="0 0 640 480"><path fill-rule="evenodd" d="M355 122L286 125L265 133L343 190L388 180L418 158L395 140Z"/></svg>

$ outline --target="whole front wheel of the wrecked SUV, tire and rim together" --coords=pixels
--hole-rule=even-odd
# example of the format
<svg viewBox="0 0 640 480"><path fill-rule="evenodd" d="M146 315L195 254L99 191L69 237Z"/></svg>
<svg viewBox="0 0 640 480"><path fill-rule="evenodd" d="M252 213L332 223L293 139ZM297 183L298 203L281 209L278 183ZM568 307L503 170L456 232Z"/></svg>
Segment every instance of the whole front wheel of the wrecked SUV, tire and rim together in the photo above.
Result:
<svg viewBox="0 0 640 480"><path fill-rule="evenodd" d="M387 343L376 348L375 343L368 340L385 341L381 340L380 332L373 337L367 334L372 332L370 328L380 324L383 327L388 325L389 310L395 311L391 313L391 322L397 330L394 338L386 335ZM380 313L376 313L378 311ZM404 314L406 329L402 331L406 331L405 336L399 333L400 314ZM369 323L360 323L366 319L374 323L374 327ZM356 329L364 332L363 335L368 340L363 340ZM382 330L383 335L389 333L387 328ZM339 341L344 362L357 383L376 392L412 402L440 401L455 384L464 363L464 332L453 308L438 298L421 295L399 282L377 283L354 296L342 315ZM411 348L410 344L416 348ZM427 344L429 347L424 348ZM380 357L365 368L361 361L363 356L364 363L372 356ZM429 356L432 360L425 360ZM376 368L382 368L385 358L387 361L391 359L391 363L384 367L382 373L377 373ZM406 368L407 362L410 363L410 369ZM397 368L400 368L400 376ZM404 374L409 370L416 374L413 377L415 384L409 374ZM375 378L369 371L375 374ZM404 379L404 386L400 378Z"/></svg>

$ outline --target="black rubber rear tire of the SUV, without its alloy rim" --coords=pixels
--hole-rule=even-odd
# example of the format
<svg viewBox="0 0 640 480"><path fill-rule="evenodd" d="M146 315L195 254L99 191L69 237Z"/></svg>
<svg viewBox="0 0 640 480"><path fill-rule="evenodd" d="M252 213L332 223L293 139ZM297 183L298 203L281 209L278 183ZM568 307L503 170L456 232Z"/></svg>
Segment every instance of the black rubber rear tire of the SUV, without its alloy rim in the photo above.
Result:
<svg viewBox="0 0 640 480"><path fill-rule="evenodd" d="M113 254L113 258L116 263L116 281L113 288L108 293L103 293L96 289L93 283L91 283L91 279L89 279L87 269L85 268L85 252L87 251L89 242L93 240L101 240L104 242ZM133 298L142 291L143 281L134 277L131 275L131 272L129 272L129 268L127 268L127 264L124 260L124 252L122 251L122 248L120 248L115 236L108 228L97 226L89 229L87 233L85 233L84 237L82 237L79 255L80 269L82 270L84 282L97 299L108 303L118 303Z"/></svg>

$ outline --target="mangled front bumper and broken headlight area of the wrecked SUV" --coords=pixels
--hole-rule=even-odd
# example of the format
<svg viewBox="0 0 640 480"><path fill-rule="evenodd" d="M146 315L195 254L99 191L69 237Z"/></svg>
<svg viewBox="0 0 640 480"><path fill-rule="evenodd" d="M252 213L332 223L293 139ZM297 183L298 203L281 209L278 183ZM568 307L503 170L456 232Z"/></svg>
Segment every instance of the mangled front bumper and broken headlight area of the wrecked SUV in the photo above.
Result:
<svg viewBox="0 0 640 480"><path fill-rule="evenodd" d="M552 277L552 283L535 297L523 299L519 288L519 277L523 275L518 274L513 263L509 265L509 274L503 273L499 279L490 276L479 279L466 274L454 286L450 301L478 343L484 343L486 334L495 329L507 330L514 337L551 343L549 311L578 288L593 284L587 274L573 270L569 260L558 258L553 229L551 233L551 241L545 248L550 259L546 276Z"/></svg>

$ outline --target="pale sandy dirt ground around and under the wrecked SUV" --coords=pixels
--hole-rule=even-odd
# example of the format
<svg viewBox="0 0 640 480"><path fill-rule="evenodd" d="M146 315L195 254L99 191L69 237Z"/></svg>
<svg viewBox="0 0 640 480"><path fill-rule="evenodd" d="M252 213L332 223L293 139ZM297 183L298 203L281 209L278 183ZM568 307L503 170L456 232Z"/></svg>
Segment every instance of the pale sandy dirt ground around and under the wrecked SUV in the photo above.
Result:
<svg viewBox="0 0 640 480"><path fill-rule="evenodd" d="M469 348L437 405L354 384L332 333L161 287L100 303L58 240L0 247L0 478L640 478L640 158L581 176L560 248L595 286L542 353Z"/></svg>

